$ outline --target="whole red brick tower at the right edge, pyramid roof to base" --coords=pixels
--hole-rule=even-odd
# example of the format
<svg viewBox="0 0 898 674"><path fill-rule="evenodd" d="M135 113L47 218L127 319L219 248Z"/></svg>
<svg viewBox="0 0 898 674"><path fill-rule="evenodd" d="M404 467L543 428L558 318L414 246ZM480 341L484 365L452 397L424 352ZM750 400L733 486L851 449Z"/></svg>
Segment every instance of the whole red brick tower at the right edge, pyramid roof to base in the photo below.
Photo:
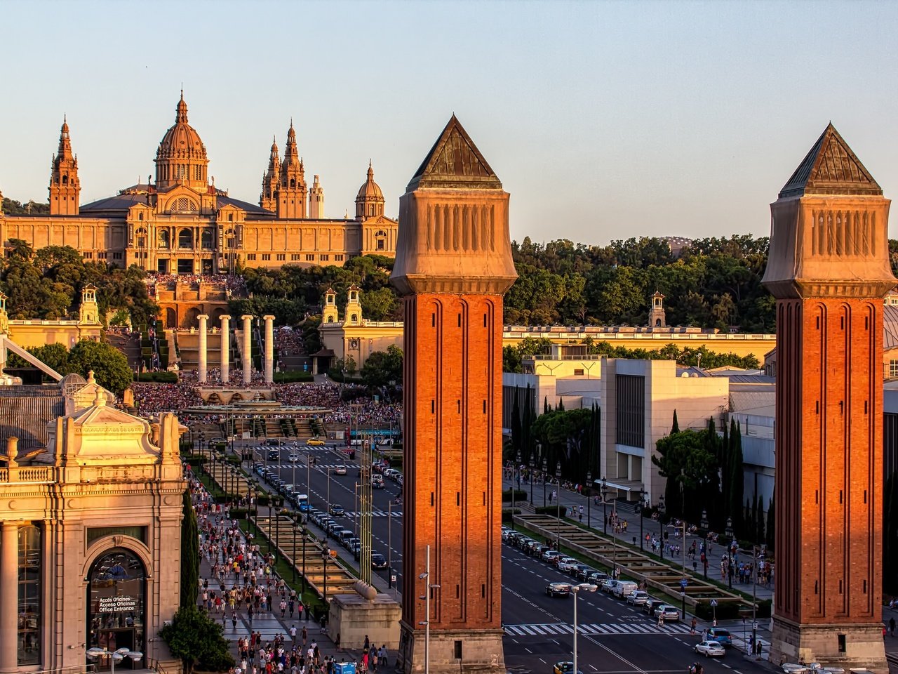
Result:
<svg viewBox="0 0 898 674"><path fill-rule="evenodd" d="M885 672L883 297L890 201L832 124L770 205L777 298L770 661Z"/></svg>

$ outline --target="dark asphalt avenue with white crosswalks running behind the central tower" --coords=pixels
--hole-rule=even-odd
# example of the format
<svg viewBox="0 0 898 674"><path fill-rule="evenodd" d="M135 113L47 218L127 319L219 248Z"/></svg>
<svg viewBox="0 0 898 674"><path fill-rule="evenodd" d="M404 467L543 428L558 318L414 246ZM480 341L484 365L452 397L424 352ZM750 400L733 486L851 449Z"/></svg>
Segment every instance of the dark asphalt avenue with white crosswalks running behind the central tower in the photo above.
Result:
<svg viewBox="0 0 898 674"><path fill-rule="evenodd" d="M308 493L313 507L326 510L329 503L342 505L347 510L342 518L344 526L354 528L357 462L348 461L334 446L302 447L298 451L301 460L296 464L286 460L288 450L284 448L281 460L272 461L269 466L277 466L281 478L295 483L297 491ZM268 449L262 453L266 455L264 460ZM315 466L307 467L309 455L315 457ZM334 474L336 466L347 466L347 474ZM385 483L384 489L373 490L373 547L375 552L392 559L392 568L401 576L401 505L392 506L392 517L388 514L399 485L389 480ZM341 556L351 558L348 551L339 546L338 549ZM375 573L385 585L387 572ZM550 581L569 581L570 577L509 545L503 545L502 573L507 669L517 674L548 673L554 662L570 660L574 599L549 598L544 594ZM699 659L709 674L754 674L765 670L735 649L727 652L722 661L706 662L692 651L700 635L689 634L688 624L659 627L641 609L602 592L582 593L577 602L578 664L584 674L684 674L690 663Z"/></svg>

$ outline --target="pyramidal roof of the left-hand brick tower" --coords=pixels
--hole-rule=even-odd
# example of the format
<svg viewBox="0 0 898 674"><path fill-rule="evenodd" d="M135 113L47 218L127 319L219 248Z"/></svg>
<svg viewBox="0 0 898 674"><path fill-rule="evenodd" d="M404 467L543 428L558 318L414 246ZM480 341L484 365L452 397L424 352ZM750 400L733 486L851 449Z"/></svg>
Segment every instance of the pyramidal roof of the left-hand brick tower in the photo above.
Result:
<svg viewBox="0 0 898 674"><path fill-rule="evenodd" d="M501 190L502 182L453 114L406 189L420 187Z"/></svg>

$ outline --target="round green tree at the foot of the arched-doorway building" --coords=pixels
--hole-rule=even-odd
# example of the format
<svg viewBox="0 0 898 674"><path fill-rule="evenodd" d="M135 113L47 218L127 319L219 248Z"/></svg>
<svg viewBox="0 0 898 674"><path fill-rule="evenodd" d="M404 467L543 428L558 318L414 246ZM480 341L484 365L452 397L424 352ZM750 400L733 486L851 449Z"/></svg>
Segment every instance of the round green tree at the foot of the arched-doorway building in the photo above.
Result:
<svg viewBox="0 0 898 674"><path fill-rule="evenodd" d="M187 674L194 669L224 671L233 667L225 628L196 603L182 606L159 635L172 655L179 658Z"/></svg>

